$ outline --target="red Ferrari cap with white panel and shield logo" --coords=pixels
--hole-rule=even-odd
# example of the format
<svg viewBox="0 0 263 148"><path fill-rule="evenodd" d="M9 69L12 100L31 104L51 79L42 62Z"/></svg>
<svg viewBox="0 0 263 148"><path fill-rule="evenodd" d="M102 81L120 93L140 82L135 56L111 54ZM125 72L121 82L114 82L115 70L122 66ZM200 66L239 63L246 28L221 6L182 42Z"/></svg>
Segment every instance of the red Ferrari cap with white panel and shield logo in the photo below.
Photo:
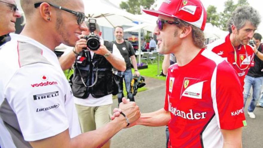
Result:
<svg viewBox="0 0 263 148"><path fill-rule="evenodd" d="M143 11L152 16L171 16L192 24L204 31L207 12L200 0L164 0L159 10Z"/></svg>

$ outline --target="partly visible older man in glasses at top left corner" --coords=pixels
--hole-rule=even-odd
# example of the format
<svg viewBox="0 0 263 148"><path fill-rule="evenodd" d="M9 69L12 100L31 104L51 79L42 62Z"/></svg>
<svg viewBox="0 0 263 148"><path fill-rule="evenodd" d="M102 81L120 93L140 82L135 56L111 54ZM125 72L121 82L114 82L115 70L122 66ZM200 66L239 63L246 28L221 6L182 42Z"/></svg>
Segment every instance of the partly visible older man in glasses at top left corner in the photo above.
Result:
<svg viewBox="0 0 263 148"><path fill-rule="evenodd" d="M0 1L0 36L15 32L16 18L20 18L16 2L14 0Z"/></svg>

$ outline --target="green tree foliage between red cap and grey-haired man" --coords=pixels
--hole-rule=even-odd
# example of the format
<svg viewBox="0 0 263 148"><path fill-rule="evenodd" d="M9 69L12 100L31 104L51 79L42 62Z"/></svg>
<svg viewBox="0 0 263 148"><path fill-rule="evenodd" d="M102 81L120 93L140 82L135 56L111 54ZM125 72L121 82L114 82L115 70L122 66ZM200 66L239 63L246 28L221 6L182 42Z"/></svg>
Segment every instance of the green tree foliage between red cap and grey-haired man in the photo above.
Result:
<svg viewBox="0 0 263 148"><path fill-rule="evenodd" d="M233 0L227 0L224 2L224 11L217 13L215 6L208 6L207 7L207 22L219 27L222 30L227 31L227 22L231 16L231 13L236 9L238 6L249 5L247 0L238 0L238 3L235 4Z"/></svg>

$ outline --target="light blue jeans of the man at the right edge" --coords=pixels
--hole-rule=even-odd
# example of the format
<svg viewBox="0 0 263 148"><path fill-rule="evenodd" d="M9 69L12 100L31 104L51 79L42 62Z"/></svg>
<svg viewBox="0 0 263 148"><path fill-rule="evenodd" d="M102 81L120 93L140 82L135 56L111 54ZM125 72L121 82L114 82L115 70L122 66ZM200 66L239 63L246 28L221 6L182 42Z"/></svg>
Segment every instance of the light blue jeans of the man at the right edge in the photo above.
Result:
<svg viewBox="0 0 263 148"><path fill-rule="evenodd" d="M244 85L244 107L247 101L247 96L249 94L250 88L252 86L253 88L253 96L252 96L252 100L250 102L250 105L248 106L247 110L248 112L253 112L256 104L259 100L259 96L260 96L260 91L261 91L261 86L262 86L262 80L263 77L250 77L250 76L246 76L245 77L245 85Z"/></svg>

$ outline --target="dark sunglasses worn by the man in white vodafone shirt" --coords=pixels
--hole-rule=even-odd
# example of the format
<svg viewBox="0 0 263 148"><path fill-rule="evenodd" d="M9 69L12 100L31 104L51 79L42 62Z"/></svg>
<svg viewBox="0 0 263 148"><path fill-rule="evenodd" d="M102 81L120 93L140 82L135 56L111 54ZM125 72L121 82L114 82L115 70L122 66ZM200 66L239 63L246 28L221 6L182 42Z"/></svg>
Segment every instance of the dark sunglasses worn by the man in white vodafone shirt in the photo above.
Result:
<svg viewBox="0 0 263 148"><path fill-rule="evenodd" d="M43 3L43 2L35 3L35 4L34 4L35 8L39 7L40 4L42 4L42 3ZM47 3L48 3L48 2L47 2ZM55 4L51 4L51 3L48 3L48 4L51 5L51 6L53 6L53 7L59 8L59 9L61 9L61 10L67 11L67 12L69 12L69 13L72 13L72 14L74 14L75 16L77 16L77 23L78 23L79 25L81 25L81 24L84 22L84 20L85 20L85 14L84 14L84 13L76 12L76 11L73 11L73 10L69 10L69 9L67 9L67 8L63 8L63 7L61 7L61 6L58 6L58 5L55 5Z"/></svg>

